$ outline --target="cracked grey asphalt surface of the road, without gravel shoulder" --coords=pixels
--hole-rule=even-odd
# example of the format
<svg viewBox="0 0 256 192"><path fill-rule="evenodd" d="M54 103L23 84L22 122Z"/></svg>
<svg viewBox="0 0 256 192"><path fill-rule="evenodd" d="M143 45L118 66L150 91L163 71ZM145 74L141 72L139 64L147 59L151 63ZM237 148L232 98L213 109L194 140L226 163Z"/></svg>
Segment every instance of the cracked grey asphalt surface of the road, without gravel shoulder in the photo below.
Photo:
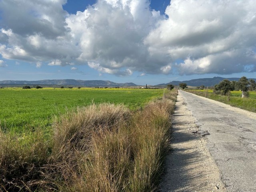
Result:
<svg viewBox="0 0 256 192"><path fill-rule="evenodd" d="M179 91L199 130L208 131L206 147L229 192L256 192L256 119Z"/></svg>

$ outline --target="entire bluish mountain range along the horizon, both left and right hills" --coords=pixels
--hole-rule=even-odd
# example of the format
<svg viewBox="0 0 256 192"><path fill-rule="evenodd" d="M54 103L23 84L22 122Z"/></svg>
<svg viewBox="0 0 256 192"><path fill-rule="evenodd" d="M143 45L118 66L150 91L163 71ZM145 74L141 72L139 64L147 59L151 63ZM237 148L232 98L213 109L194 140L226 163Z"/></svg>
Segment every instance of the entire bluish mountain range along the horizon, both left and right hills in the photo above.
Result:
<svg viewBox="0 0 256 192"><path fill-rule="evenodd" d="M166 87L168 84L178 86L180 83L186 83L188 86L214 86L224 79L230 81L238 81L240 78L201 78L192 79L186 81L172 81L168 83L158 84L154 87ZM256 79L254 79L256 81ZM15 80L3 80L0 81L2 86L21 86L21 85L45 85L45 86L85 86L85 87L124 87L124 86L138 86L134 83L115 83L112 81L104 80L74 80L74 79L63 79L63 80L38 80L38 81L15 81ZM150 87L150 86L149 86Z"/></svg>

